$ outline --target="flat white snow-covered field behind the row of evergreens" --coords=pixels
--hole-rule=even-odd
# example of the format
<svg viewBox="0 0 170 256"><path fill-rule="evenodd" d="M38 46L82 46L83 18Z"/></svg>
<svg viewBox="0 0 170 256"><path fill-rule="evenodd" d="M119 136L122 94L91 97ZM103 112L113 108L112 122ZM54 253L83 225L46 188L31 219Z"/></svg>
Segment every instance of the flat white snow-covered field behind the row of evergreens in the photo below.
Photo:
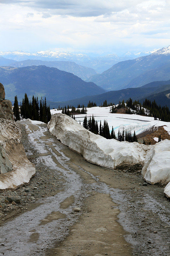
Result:
<svg viewBox="0 0 170 256"><path fill-rule="evenodd" d="M170 134L170 122L162 122L159 120L154 120L153 117L150 116L139 116L139 115L129 115L129 114L112 114L110 113L111 107L93 107L87 108L87 119L90 116L94 116L95 120L98 122L98 125L104 123L104 120L107 120L109 125L110 132L112 130L112 126L115 130L115 134L123 131L123 129L130 130L131 132L136 132L136 134L142 133L152 126L155 126L155 130L157 130L158 126L164 125L165 130ZM61 113L62 110L51 109L51 114ZM85 114L75 115L77 122L83 124Z"/></svg>

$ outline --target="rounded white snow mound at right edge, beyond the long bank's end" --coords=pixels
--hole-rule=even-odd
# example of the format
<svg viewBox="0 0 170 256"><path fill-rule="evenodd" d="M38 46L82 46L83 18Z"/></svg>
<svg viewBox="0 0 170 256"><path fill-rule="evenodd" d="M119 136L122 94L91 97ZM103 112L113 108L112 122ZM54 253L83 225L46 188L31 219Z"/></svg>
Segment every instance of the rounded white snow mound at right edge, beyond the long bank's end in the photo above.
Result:
<svg viewBox="0 0 170 256"><path fill-rule="evenodd" d="M170 181L170 140L160 141L147 153L142 176L150 184Z"/></svg>

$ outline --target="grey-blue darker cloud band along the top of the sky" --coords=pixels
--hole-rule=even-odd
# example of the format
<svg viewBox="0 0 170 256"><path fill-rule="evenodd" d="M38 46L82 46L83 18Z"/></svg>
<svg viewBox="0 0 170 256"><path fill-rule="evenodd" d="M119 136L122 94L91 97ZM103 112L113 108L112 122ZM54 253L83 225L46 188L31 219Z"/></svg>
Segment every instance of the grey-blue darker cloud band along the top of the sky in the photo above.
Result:
<svg viewBox="0 0 170 256"><path fill-rule="evenodd" d="M132 7L141 0L0 0L3 4L20 4L39 9L50 10L51 14L71 15L74 17L92 17L109 15Z"/></svg>

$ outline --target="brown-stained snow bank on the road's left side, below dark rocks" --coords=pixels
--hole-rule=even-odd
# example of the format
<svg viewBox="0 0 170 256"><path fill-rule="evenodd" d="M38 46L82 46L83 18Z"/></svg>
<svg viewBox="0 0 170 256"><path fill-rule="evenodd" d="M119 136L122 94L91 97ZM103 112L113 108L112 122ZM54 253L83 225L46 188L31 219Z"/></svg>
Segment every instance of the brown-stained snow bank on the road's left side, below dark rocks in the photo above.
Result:
<svg viewBox="0 0 170 256"><path fill-rule="evenodd" d="M0 174L0 191L16 189L35 174L35 166L26 157L21 143L21 129L19 124L11 120L0 119L1 147L12 165L12 170Z"/></svg>

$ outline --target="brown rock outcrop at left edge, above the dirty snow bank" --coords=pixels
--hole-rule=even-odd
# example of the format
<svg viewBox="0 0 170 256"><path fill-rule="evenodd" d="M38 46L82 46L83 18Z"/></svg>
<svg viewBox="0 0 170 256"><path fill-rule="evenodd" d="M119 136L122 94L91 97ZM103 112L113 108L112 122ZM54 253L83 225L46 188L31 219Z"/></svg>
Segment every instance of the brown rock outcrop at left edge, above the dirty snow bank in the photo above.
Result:
<svg viewBox="0 0 170 256"><path fill-rule="evenodd" d="M5 100L5 91L3 84L0 83L0 118L14 120L12 112L12 103Z"/></svg>

